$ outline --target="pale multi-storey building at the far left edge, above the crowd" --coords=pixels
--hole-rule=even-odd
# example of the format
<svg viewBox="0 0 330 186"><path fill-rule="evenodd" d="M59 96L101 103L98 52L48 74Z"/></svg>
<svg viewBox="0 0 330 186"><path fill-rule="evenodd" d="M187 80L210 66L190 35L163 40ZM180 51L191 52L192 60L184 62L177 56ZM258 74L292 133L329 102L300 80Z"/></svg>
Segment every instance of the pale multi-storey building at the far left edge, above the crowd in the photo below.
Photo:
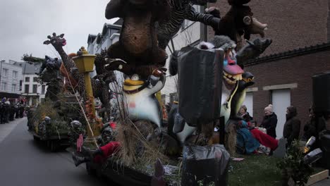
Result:
<svg viewBox="0 0 330 186"><path fill-rule="evenodd" d="M17 61L0 62L0 97L20 98L23 63Z"/></svg>

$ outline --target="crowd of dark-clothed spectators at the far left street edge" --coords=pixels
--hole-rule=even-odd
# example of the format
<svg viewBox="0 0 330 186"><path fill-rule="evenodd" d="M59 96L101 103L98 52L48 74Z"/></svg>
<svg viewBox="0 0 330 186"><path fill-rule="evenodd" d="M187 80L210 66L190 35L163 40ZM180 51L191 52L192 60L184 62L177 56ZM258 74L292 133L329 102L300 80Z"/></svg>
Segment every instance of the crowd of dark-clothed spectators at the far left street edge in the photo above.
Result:
<svg viewBox="0 0 330 186"><path fill-rule="evenodd" d="M25 111L24 101L15 103L4 97L0 102L0 124L9 123L15 118L23 118Z"/></svg>

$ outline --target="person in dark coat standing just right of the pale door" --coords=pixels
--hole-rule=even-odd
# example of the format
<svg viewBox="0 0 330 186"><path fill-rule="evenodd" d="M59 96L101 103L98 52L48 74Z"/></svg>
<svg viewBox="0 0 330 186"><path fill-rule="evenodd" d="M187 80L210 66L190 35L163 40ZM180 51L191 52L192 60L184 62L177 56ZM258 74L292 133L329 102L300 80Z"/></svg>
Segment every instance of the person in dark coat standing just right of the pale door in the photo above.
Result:
<svg viewBox="0 0 330 186"><path fill-rule="evenodd" d="M300 120L297 118L297 109L294 106L286 108L286 123L284 124L283 137L287 140L287 147L291 146L293 140L299 138Z"/></svg>

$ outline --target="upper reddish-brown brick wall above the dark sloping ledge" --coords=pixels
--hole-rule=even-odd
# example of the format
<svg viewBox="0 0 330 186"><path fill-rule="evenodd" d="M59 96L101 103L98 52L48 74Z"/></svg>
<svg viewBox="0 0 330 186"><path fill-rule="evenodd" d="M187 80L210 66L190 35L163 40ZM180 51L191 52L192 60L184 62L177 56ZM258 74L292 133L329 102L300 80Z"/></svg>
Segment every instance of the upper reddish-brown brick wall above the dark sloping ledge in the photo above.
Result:
<svg viewBox="0 0 330 186"><path fill-rule="evenodd" d="M273 43L263 55L327 42L326 0L253 0L247 5L252 8L257 20L269 26L266 37L273 39ZM218 0L209 6L220 8L221 16L230 8L227 0ZM214 36L211 27L208 36Z"/></svg>

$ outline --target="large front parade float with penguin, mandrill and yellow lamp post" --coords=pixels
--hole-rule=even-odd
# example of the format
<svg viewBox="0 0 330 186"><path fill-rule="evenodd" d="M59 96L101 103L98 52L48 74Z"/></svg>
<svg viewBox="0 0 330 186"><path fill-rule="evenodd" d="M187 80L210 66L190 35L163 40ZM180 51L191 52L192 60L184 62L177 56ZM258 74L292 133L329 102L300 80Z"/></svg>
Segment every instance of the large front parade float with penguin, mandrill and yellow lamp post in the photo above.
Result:
<svg viewBox="0 0 330 186"><path fill-rule="evenodd" d="M63 34L48 36L44 44L59 52L80 106L81 118L69 125L76 166L86 163L88 173L106 175L118 185L227 184L230 154L236 150L232 121L241 119L236 113L253 84L244 62L262 54L271 39L242 46L243 34L263 37L267 27L252 17L244 5L249 1L228 1L231 10L224 18L216 8L207 13L193 8L208 2L215 0L111 0L105 16L123 18L121 35L95 56L83 47L68 55ZM155 94L166 81L164 49L185 19L210 25L220 36L173 52L169 71L178 74L179 94L165 126ZM91 78L94 64L97 76ZM124 82L116 80L114 70L124 74ZM94 107L99 97L111 115L110 82L121 95L115 125L99 118Z"/></svg>

